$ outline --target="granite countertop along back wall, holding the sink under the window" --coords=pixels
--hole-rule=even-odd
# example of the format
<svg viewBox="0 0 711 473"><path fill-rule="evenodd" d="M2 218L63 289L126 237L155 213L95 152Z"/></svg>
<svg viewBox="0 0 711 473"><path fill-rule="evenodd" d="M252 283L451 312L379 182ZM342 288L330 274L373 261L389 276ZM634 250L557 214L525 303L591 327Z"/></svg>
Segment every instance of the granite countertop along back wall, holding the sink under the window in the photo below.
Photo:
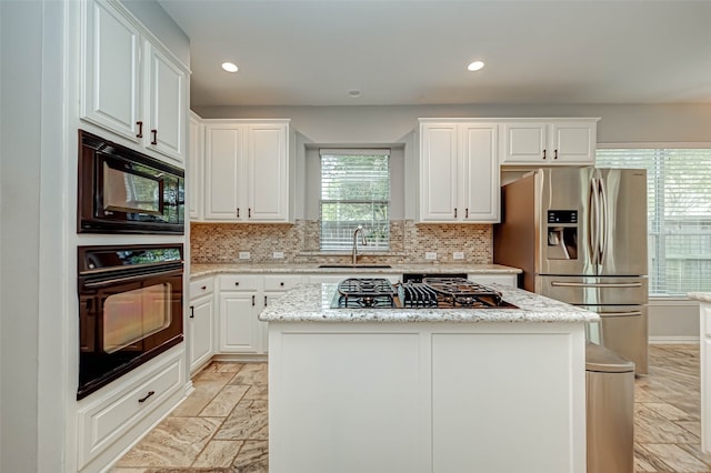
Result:
<svg viewBox="0 0 711 473"><path fill-rule="evenodd" d="M234 273L272 273L272 274L402 274L402 273L500 273L519 274L518 268L501 264L392 264L392 268L319 268L318 263L283 263L283 264L248 264L248 263L213 263L191 264L190 276L200 278L213 274Z"/></svg>

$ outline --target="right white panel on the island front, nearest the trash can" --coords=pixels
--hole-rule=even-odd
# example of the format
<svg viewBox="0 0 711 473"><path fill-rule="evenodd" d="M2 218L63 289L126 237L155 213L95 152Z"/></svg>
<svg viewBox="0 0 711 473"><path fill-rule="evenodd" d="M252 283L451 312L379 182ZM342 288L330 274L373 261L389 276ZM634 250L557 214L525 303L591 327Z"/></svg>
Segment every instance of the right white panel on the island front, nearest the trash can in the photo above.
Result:
<svg viewBox="0 0 711 473"><path fill-rule="evenodd" d="M570 350L567 334L433 334L432 470L578 471Z"/></svg>

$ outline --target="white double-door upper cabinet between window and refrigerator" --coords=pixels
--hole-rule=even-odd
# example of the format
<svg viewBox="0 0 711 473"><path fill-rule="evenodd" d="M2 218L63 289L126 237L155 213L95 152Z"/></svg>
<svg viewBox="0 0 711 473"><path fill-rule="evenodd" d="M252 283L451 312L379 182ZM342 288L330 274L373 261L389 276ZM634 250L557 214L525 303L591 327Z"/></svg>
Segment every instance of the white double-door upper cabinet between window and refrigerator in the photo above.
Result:
<svg viewBox="0 0 711 473"><path fill-rule="evenodd" d="M419 221L499 221L498 130L492 122L420 120Z"/></svg>

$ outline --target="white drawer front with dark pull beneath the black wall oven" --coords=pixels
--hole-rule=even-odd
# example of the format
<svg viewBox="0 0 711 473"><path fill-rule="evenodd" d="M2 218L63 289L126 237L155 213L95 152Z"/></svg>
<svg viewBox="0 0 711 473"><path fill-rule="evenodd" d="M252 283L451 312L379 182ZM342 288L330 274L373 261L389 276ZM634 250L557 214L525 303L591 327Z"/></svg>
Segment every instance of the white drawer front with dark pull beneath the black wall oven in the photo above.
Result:
<svg viewBox="0 0 711 473"><path fill-rule="evenodd" d="M111 446L183 384L184 352L178 350L126 388L109 392L78 411L79 469ZM121 383L121 379L116 381Z"/></svg>

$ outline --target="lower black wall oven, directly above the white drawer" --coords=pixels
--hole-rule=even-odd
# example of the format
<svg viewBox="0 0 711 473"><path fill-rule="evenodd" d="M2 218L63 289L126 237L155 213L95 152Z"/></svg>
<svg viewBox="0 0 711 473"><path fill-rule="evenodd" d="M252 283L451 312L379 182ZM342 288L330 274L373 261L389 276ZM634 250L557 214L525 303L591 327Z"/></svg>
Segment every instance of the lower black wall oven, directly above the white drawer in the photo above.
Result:
<svg viewBox="0 0 711 473"><path fill-rule="evenodd" d="M78 400L183 340L182 250L78 248Z"/></svg>

